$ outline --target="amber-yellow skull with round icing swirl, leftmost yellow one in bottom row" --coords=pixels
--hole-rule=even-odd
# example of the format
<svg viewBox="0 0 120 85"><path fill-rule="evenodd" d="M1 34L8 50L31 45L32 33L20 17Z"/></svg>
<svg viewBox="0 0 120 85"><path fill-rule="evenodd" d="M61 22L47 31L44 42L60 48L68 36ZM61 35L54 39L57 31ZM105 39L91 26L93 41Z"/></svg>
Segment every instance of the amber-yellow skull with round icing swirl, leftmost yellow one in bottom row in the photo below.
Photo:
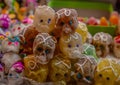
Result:
<svg viewBox="0 0 120 85"><path fill-rule="evenodd" d="M24 75L27 78L37 82L45 82L48 76L48 65L41 64L34 55L28 55L24 58Z"/></svg>

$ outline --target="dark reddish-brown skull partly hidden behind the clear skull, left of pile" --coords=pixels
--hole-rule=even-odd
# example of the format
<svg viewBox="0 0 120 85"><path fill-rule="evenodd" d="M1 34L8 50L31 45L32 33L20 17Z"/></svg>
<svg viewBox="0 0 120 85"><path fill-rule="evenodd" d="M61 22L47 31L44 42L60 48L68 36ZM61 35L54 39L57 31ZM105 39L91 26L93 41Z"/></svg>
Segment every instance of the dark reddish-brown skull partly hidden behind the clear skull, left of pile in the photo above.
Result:
<svg viewBox="0 0 120 85"><path fill-rule="evenodd" d="M33 53L33 42L37 34L38 31L35 29L34 26L29 26L23 30L21 34L21 48L23 49L24 53Z"/></svg>

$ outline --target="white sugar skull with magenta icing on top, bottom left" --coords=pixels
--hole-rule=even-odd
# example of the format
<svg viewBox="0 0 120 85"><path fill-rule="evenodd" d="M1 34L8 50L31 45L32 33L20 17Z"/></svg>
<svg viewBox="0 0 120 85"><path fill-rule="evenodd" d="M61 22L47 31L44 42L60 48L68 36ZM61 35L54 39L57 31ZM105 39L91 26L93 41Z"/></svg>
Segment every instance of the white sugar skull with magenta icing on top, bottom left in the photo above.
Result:
<svg viewBox="0 0 120 85"><path fill-rule="evenodd" d="M20 85L23 83L23 70L24 66L21 62L15 63L9 70L8 73L8 85Z"/></svg>

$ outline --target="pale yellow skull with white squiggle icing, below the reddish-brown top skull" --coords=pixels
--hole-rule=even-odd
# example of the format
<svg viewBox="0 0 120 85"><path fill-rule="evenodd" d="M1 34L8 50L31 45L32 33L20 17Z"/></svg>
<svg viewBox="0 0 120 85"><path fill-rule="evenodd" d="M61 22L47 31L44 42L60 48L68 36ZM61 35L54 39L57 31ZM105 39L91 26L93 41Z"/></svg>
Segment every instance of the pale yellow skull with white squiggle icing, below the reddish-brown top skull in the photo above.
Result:
<svg viewBox="0 0 120 85"><path fill-rule="evenodd" d="M82 39L78 33L62 36L59 41L59 46L60 51L70 59L79 58L83 51Z"/></svg>

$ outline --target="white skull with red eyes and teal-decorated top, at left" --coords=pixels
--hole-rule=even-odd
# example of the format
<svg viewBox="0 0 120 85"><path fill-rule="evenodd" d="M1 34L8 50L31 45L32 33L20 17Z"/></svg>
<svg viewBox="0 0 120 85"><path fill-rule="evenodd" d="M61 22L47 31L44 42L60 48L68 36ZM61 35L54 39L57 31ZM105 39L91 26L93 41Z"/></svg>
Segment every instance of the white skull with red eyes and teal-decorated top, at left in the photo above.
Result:
<svg viewBox="0 0 120 85"><path fill-rule="evenodd" d="M5 38L2 41L2 52L14 52L18 53L19 52L19 47L20 47L20 40L19 37L12 37L12 38Z"/></svg>

